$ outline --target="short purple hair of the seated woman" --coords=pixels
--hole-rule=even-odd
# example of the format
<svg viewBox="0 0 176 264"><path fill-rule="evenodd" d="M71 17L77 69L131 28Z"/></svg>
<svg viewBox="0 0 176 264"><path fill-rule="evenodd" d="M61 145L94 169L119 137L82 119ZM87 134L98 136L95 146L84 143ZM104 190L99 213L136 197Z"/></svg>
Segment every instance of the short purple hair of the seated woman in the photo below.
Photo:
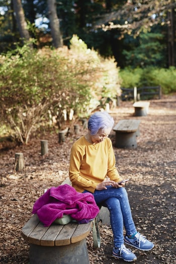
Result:
<svg viewBox="0 0 176 264"><path fill-rule="evenodd" d="M91 135L96 135L100 129L113 128L114 119L107 112L95 112L88 121Z"/></svg>

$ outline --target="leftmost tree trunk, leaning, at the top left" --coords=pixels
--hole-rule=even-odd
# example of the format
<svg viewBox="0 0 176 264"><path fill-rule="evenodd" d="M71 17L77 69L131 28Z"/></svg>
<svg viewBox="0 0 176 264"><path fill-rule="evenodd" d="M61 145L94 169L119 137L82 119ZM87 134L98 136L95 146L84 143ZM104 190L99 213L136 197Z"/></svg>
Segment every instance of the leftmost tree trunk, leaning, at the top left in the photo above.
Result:
<svg viewBox="0 0 176 264"><path fill-rule="evenodd" d="M13 5L14 5L14 11L16 14L16 20L17 20L17 25L20 31L20 36L22 38L22 41L29 41L30 40L30 35L29 31L27 29L27 23L25 21L25 14L24 10L22 7L22 2L21 0L13 0Z"/></svg>

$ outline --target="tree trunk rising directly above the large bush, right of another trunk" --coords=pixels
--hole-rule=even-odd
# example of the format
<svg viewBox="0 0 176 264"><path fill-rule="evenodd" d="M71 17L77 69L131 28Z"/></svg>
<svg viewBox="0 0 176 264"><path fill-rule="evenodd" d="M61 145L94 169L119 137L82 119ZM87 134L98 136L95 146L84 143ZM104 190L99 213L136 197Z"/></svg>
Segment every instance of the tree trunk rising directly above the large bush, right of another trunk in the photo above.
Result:
<svg viewBox="0 0 176 264"><path fill-rule="evenodd" d="M61 48L63 46L63 40L60 33L60 24L57 17L56 1L48 0L48 15L51 27L52 43L55 48Z"/></svg>

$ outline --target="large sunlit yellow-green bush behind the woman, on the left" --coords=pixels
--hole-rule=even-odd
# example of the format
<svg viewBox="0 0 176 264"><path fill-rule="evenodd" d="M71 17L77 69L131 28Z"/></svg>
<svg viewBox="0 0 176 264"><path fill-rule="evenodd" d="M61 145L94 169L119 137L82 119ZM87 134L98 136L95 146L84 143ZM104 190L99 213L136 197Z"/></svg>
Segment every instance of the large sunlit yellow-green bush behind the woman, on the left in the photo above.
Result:
<svg viewBox="0 0 176 264"><path fill-rule="evenodd" d="M49 124L49 114L61 128L64 111L89 115L101 96L116 96L118 83L114 59L101 58L77 36L69 50L17 47L0 56L0 121L27 143L42 123Z"/></svg>

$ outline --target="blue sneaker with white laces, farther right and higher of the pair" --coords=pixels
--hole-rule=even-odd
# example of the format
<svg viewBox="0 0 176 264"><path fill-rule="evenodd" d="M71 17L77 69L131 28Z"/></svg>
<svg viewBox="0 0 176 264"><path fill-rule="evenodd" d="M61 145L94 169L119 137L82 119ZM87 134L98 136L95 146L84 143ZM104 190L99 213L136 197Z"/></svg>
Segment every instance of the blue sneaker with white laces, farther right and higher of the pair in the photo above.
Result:
<svg viewBox="0 0 176 264"><path fill-rule="evenodd" d="M139 232L135 234L134 238L124 237L125 243L134 246L140 250L151 250L154 246L152 242L147 240L145 236L141 235Z"/></svg>

